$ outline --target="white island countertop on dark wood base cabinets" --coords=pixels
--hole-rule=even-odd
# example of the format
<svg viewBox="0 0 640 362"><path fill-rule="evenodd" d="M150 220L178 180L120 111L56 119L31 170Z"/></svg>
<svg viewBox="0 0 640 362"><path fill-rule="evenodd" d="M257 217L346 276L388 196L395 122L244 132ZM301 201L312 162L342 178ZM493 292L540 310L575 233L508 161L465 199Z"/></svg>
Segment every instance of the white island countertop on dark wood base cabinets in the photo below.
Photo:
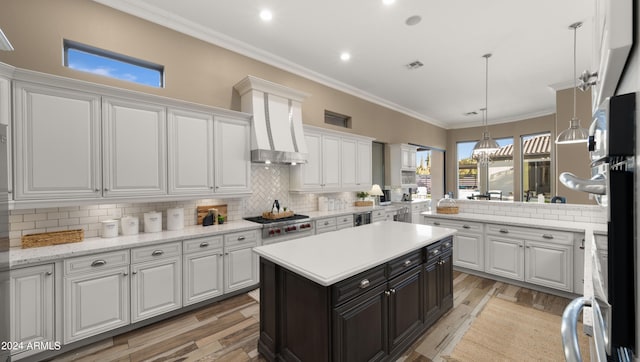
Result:
<svg viewBox="0 0 640 362"><path fill-rule="evenodd" d="M428 225L382 221L253 250L307 279L329 286L455 232Z"/></svg>

